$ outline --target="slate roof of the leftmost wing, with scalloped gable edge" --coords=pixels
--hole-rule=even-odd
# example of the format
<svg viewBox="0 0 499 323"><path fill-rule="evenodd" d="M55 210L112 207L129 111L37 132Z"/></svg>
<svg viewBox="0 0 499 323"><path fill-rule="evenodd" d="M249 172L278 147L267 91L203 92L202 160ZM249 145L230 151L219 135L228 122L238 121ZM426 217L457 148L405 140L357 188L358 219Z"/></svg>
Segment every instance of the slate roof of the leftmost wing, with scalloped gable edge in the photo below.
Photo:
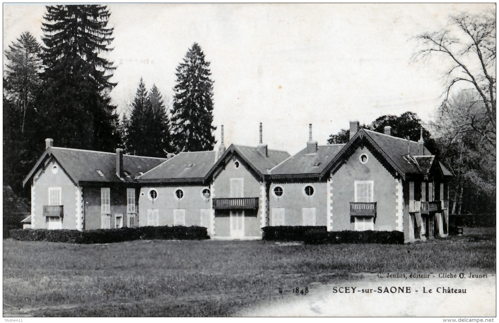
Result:
<svg viewBox="0 0 499 323"><path fill-rule="evenodd" d="M43 162L55 158L74 183L78 182L135 182L140 176L166 161L166 158L123 155L123 181L116 175L116 153L48 147L26 176L22 185L43 167ZM99 170L103 176L101 176Z"/></svg>

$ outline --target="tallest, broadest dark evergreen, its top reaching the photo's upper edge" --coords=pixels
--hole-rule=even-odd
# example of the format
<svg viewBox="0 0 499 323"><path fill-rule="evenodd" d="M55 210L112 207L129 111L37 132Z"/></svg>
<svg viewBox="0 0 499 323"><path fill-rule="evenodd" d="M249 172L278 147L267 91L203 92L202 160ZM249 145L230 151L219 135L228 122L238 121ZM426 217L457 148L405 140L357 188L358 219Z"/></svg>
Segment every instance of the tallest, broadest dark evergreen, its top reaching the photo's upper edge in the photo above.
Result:
<svg viewBox="0 0 499 323"><path fill-rule="evenodd" d="M112 50L113 28L104 5L51 5L42 37L44 135L58 145L113 151L119 138L108 92L115 67L101 53Z"/></svg>

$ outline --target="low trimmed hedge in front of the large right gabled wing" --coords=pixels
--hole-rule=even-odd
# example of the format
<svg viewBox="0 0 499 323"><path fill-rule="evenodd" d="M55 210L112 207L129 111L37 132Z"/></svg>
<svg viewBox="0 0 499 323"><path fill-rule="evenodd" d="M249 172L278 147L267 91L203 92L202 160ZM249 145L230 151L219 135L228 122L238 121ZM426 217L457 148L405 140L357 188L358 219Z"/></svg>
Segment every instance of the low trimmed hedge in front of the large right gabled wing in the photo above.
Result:
<svg viewBox="0 0 499 323"><path fill-rule="evenodd" d="M307 232L303 240L306 244L377 243L403 244L404 233L400 231L337 231Z"/></svg>

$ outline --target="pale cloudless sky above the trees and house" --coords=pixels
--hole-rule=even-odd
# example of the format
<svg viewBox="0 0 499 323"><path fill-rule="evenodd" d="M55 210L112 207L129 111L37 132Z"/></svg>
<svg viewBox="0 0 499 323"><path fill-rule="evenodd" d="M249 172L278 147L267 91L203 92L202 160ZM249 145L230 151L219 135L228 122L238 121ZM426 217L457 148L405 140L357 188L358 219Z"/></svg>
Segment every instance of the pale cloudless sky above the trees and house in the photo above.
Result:
<svg viewBox="0 0 499 323"><path fill-rule="evenodd" d="M211 62L213 125L220 143L255 146L259 122L269 149L294 154L308 124L324 145L349 121L412 111L425 122L442 102L449 61L415 61L415 36L448 16L494 4L110 4L117 67L112 102L123 111L142 77L166 101L175 69L197 42ZM38 40L43 5L3 5L3 49L23 31ZM40 40L41 41L41 40ZM3 57L5 64L5 57ZM57 145L54 138L54 145ZM217 144L218 146L218 144Z"/></svg>

